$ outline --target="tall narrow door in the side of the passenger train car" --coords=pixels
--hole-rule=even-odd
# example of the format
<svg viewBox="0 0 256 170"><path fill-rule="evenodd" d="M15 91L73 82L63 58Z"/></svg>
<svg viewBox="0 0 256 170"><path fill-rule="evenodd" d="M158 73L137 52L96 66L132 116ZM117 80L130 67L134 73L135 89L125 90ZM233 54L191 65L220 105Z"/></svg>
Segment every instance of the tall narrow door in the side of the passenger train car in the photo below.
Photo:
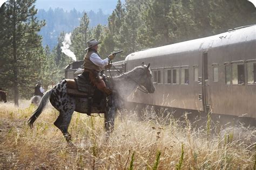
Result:
<svg viewBox="0 0 256 170"><path fill-rule="evenodd" d="M211 105L208 100L208 52L204 51L202 55L202 96L203 110L206 114L210 112Z"/></svg>

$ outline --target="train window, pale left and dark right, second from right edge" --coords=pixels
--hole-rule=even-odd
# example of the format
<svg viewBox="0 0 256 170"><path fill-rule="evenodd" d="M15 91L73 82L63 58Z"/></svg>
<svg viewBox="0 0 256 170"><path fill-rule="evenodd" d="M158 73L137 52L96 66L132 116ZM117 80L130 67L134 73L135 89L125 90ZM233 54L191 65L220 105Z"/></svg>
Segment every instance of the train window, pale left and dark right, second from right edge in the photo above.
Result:
<svg viewBox="0 0 256 170"><path fill-rule="evenodd" d="M232 65L232 84L245 83L245 66L243 64Z"/></svg>

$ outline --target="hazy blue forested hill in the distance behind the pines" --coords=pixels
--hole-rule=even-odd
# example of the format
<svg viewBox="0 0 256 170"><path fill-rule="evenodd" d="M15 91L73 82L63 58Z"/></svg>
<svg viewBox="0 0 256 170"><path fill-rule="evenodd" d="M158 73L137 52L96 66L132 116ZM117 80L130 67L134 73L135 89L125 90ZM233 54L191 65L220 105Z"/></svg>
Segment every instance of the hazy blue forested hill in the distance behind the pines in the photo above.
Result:
<svg viewBox="0 0 256 170"><path fill-rule="evenodd" d="M94 27L98 24L107 25L109 15L105 15L101 9L98 9L98 12L89 11L86 13L90 18L89 26ZM84 12L79 12L76 9L71 11L64 11L60 8L50 8L48 11L39 9L37 18L39 20L44 19L46 22L46 25L39 32L43 36L43 46L49 45L51 49L55 47L60 32L73 31L79 25L80 18L83 15Z"/></svg>

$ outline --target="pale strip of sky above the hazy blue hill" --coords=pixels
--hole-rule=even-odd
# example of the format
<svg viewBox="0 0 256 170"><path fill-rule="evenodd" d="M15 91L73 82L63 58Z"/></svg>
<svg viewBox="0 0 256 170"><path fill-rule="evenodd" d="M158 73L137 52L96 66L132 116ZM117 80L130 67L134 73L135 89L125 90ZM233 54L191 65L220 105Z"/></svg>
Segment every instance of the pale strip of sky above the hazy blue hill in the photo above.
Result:
<svg viewBox="0 0 256 170"><path fill-rule="evenodd" d="M1 0L0 0L1 1ZM122 3L125 0L121 0ZM77 11L98 11L110 14L116 8L117 0L37 0L36 8L49 10L49 8L62 8L64 10L76 9Z"/></svg>

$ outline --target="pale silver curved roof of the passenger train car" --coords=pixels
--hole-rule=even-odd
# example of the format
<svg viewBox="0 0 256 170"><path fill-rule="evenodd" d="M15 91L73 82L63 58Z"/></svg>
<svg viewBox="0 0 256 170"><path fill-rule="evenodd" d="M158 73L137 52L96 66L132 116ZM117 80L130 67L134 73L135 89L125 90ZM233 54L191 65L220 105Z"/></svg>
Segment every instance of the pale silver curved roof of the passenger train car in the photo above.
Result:
<svg viewBox="0 0 256 170"><path fill-rule="evenodd" d="M134 52L127 55L125 61L152 58L154 56L163 56L188 51L198 51L200 48L225 46L255 39L256 25L241 26L235 29L228 30L228 32L220 33L210 37L193 39L189 41L178 42L176 44L149 48L143 51Z"/></svg>

